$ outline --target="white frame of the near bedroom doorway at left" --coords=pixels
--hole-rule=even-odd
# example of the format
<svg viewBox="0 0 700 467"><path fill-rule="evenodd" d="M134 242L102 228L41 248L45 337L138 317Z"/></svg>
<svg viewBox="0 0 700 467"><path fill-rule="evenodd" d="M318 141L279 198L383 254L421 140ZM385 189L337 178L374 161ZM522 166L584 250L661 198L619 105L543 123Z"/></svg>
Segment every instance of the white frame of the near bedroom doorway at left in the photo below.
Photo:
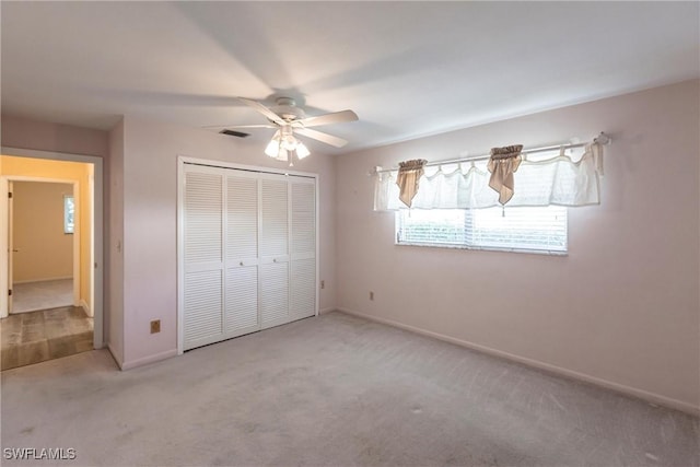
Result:
<svg viewBox="0 0 700 467"><path fill-rule="evenodd" d="M19 157L30 159L43 159L50 161L65 161L65 162L81 162L93 165L93 179L94 189L92 194L92 257L94 267L94 280L93 280L93 317L94 317L94 331L93 331L93 347L95 349L102 349L104 347L104 171L103 159L96 155L85 154L72 154L67 152L55 151L39 151L32 149L1 147L0 153L2 155L13 155ZM1 184L1 182L0 182ZM1 188L1 187L0 187ZM7 188L7 187L5 187ZM7 197L7 190L5 197ZM0 207L2 210L7 210L7 203ZM0 219L2 212L0 212ZM7 215L7 214L5 214ZM0 264L7 264L8 248L7 248L7 232L2 233L4 229L0 229ZM0 268L0 291L3 288L7 290L8 273L5 268ZM0 293L0 310L7 310L7 295ZM3 307L4 305L4 307Z"/></svg>

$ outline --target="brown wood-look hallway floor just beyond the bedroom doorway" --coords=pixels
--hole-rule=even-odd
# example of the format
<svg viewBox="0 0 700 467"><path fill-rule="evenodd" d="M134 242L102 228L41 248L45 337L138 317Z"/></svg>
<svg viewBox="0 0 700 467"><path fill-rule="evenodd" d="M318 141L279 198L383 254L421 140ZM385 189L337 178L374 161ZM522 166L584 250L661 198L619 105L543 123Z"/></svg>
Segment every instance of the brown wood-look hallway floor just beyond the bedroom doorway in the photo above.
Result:
<svg viewBox="0 0 700 467"><path fill-rule="evenodd" d="M0 319L1 369L31 365L93 348L93 319L78 306L13 314Z"/></svg>

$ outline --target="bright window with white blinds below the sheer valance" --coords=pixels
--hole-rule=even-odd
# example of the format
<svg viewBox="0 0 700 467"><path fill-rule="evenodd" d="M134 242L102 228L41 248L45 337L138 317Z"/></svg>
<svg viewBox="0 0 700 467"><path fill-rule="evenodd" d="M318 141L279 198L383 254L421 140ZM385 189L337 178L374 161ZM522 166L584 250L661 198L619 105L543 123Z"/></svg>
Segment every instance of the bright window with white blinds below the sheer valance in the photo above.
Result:
<svg viewBox="0 0 700 467"><path fill-rule="evenodd" d="M396 244L563 255L567 208L401 209Z"/></svg>

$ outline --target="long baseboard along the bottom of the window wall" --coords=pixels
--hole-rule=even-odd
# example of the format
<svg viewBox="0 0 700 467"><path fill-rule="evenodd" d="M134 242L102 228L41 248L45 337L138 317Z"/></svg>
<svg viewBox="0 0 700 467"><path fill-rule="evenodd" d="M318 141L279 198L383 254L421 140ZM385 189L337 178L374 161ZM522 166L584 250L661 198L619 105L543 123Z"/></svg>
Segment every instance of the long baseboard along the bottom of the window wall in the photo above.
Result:
<svg viewBox="0 0 700 467"><path fill-rule="evenodd" d="M487 353L490 355L494 355L494 357L499 357L505 360L511 360L514 362L518 362L522 364L525 364L527 366L533 366L536 367L538 370L545 370L547 372L550 373L555 373L557 375L560 376L565 376L565 377L570 377L573 380L579 380L579 381L583 381L596 386L600 386L604 387L606 389L611 389L615 390L617 393L621 393L625 394L627 396L632 396L632 397L637 397L639 399L643 399L648 402L651 404L656 404L660 406L664 406L664 407L668 407L672 409L676 409L676 410L680 410L693 416L700 416L700 407L696 407L692 404L688 404L688 402L684 402L682 400L678 400L678 399L673 399L670 397L666 397L666 396L662 396L660 394L655 394L655 393L650 393L648 390L644 389L638 389L635 387L631 387L631 386L627 386L623 384L619 384L619 383L614 383L611 381L607 381L607 380L603 380L596 376L591 376L587 375L585 373L579 373L572 370L567 370L563 369L561 366L556 366L556 365L551 365L549 363L545 363L545 362L540 362L538 360L533 360L533 359L527 359L525 357L520 357L513 353L509 353L509 352L503 352L501 350L497 350L497 349L492 349L490 347L486 347L486 346L481 346L478 343L474 343L474 342L469 342L466 340L462 340L462 339L456 339L454 337L450 337L450 336L445 336L443 334L439 334L439 332L433 332L430 330L425 330L425 329L421 329L421 328L417 328L413 326L409 326L409 325L405 325L402 323L398 323L398 322L394 322L392 319L386 319L386 318L380 318L376 316L372 316L372 315L366 315L364 313L360 313L360 312L355 312L352 310L348 310L348 308L336 308L339 312L342 313L347 313L349 315L354 315L354 316L359 316L361 318L365 318L375 323L381 323L381 324L385 324L388 326L393 326L393 327L397 327L400 329L405 329L411 332L416 332L416 334L420 334L423 336L429 336L439 340L443 340L445 342L450 342L450 343L455 343L457 346L462 346L465 347L467 349L471 349L471 350L476 350L478 352L482 352L482 353Z"/></svg>

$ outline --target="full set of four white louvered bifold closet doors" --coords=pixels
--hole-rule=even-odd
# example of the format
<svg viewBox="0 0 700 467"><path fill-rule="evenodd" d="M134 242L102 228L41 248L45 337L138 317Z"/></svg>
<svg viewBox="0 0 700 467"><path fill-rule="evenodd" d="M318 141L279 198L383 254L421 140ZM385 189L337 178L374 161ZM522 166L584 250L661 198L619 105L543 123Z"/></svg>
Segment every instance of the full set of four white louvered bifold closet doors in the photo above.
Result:
<svg viewBox="0 0 700 467"><path fill-rule="evenodd" d="M316 314L316 177L265 171L182 162L182 351Z"/></svg>

